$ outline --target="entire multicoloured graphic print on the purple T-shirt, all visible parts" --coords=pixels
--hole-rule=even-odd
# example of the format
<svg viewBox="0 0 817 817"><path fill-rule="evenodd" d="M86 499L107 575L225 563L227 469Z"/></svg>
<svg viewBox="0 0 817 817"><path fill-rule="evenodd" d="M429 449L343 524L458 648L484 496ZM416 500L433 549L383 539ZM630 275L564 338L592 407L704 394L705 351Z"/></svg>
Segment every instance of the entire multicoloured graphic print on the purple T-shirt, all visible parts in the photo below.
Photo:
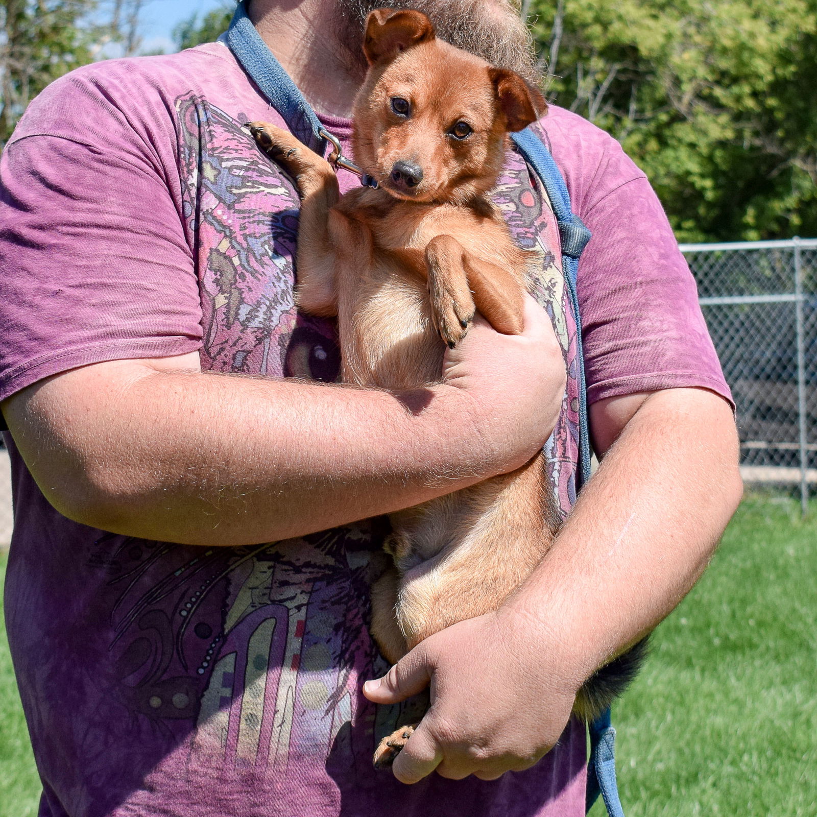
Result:
<svg viewBox="0 0 817 817"><path fill-rule="evenodd" d="M292 257L297 193L232 118L194 96L177 101L185 219L204 304L204 368L332 381L334 326L297 315ZM518 154L494 199L521 246L542 257L530 281L571 366L546 453L566 514L575 496L575 327L565 317L556 221ZM382 525L380 526L382 528ZM187 762L304 773L326 758L371 779L383 734L422 703L375 708L362 682L387 665L368 636L368 592L387 564L377 522L256 547L119 548L111 649L123 701L157 729L185 734ZM105 561L105 537L97 542ZM161 568L159 567L161 565ZM174 728L179 726L179 730ZM182 728L183 727L183 728ZM191 728L193 727L193 728Z"/></svg>

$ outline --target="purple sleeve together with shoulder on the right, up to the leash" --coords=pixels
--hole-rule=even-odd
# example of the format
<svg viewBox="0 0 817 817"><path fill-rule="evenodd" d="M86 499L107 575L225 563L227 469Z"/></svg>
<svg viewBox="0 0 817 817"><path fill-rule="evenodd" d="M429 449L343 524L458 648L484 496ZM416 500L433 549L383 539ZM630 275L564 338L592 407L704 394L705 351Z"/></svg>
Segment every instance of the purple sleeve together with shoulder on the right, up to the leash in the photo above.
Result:
<svg viewBox="0 0 817 817"><path fill-rule="evenodd" d="M698 291L650 182L611 136L556 109L543 120L574 212L587 400L702 387L731 403Z"/></svg>

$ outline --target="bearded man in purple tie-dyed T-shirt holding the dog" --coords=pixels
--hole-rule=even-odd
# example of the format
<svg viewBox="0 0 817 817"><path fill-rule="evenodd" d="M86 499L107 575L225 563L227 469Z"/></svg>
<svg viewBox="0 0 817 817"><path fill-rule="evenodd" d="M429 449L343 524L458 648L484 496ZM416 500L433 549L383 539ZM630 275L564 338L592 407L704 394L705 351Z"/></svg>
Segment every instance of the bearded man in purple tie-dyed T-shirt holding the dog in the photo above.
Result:
<svg viewBox="0 0 817 817"><path fill-rule="evenodd" d="M343 140L381 5L250 5ZM505 2L411 5L531 70ZM40 813L582 814L576 690L689 591L741 493L694 282L643 174L551 108L542 134L594 233L578 287L603 462L520 592L424 641L367 702L386 670L365 630L377 516L525 462L565 372L529 305L523 336L476 326L422 394L281 379L333 381L337 346L292 306L297 194L240 127L276 116L213 43L74 72L3 154L7 627ZM509 168L517 237L545 240ZM377 774L396 704L429 681L395 776Z"/></svg>

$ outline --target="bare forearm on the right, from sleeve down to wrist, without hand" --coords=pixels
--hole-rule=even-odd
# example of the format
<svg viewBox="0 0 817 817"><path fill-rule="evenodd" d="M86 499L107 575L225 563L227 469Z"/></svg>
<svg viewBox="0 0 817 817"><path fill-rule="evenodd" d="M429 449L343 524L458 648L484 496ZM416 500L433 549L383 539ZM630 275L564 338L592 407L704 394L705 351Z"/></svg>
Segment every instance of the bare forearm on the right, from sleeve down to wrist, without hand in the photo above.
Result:
<svg viewBox="0 0 817 817"><path fill-rule="evenodd" d="M583 682L690 591L741 493L725 401L695 389L651 395L503 613L534 619Z"/></svg>

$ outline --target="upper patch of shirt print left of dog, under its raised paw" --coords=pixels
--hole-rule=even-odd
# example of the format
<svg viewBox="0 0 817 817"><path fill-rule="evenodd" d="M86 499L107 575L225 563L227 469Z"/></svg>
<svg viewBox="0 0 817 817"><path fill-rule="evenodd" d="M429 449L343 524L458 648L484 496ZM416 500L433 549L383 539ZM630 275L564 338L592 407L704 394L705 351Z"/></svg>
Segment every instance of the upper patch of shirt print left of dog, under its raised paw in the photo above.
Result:
<svg viewBox="0 0 817 817"><path fill-rule="evenodd" d="M332 382L332 322L297 315L292 298L299 199L285 172L207 100L176 100L185 222L196 252L206 368Z"/></svg>

